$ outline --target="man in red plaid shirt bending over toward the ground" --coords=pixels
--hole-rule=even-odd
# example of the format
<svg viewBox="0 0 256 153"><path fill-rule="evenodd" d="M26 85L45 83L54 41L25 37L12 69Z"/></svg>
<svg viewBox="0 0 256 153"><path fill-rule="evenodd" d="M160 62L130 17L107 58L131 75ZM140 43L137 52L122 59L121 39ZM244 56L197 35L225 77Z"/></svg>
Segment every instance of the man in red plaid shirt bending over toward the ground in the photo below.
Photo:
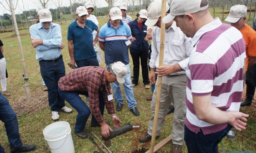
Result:
<svg viewBox="0 0 256 153"><path fill-rule="evenodd" d="M88 137L84 128L91 112L91 126L101 126L102 136L110 136L109 131L112 129L102 118L105 105L112 117L114 127L120 126L122 122L115 114L110 83L116 81L124 83L126 73L126 66L122 62L114 62L107 68L96 66L77 68L60 78L59 95L78 112L75 123L75 133L78 137L82 139ZM79 95L89 97L89 107Z"/></svg>

